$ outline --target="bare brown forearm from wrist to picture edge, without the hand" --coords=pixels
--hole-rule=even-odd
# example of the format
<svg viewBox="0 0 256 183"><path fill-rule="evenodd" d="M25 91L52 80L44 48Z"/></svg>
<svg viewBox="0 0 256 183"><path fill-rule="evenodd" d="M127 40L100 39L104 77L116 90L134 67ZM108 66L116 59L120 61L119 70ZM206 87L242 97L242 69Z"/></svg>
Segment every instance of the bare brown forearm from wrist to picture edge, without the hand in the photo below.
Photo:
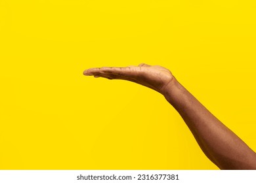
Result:
<svg viewBox="0 0 256 183"><path fill-rule="evenodd" d="M173 80L163 95L181 114L205 155L220 169L256 169L256 155L238 136Z"/></svg>

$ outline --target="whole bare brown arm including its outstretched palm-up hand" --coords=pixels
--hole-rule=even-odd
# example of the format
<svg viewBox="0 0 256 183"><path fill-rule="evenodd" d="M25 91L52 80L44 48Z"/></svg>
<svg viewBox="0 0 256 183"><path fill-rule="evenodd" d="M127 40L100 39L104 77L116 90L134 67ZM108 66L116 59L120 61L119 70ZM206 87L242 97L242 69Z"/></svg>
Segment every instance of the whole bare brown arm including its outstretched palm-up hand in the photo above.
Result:
<svg viewBox="0 0 256 183"><path fill-rule="evenodd" d="M136 82L160 92L181 114L204 154L220 169L256 169L256 154L189 93L164 67L146 65L87 69L86 76Z"/></svg>

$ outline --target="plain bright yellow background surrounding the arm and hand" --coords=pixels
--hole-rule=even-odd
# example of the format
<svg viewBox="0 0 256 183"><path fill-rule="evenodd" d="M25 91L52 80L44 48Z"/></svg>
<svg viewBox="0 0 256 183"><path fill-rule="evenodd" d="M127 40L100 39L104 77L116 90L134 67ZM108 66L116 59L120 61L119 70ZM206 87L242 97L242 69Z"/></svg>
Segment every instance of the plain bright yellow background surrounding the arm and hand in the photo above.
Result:
<svg viewBox="0 0 256 183"><path fill-rule="evenodd" d="M254 2L0 0L0 169L217 169L159 93L82 75L139 63L256 150Z"/></svg>

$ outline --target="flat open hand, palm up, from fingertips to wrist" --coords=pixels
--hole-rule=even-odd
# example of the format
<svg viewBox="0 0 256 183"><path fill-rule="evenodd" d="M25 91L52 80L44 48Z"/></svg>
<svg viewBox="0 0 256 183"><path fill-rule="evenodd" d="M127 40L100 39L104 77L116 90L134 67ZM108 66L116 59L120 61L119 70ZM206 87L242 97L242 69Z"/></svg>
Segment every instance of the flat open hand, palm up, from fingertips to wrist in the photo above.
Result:
<svg viewBox="0 0 256 183"><path fill-rule="evenodd" d="M168 69L159 65L147 65L141 63L139 66L129 67L101 67L91 68L83 72L86 76L95 76L112 79L129 80L136 82L164 95L174 76Z"/></svg>

